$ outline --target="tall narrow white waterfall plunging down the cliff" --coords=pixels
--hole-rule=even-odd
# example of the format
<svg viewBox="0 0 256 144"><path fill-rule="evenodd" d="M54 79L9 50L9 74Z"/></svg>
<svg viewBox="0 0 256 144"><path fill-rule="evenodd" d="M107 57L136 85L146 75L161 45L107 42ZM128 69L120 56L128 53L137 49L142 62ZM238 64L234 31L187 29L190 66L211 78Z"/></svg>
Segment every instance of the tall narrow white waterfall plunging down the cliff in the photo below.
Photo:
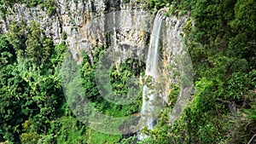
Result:
<svg viewBox="0 0 256 144"><path fill-rule="evenodd" d="M148 125L148 130L152 130L155 124L154 109L155 99L157 96L157 90L155 89L155 82L158 79L158 46L160 41L160 29L163 18L160 13L156 14L154 19L153 31L150 37L148 58L146 63L146 84L143 86L143 107L142 107L142 120L143 123ZM148 81L154 83L148 84Z"/></svg>

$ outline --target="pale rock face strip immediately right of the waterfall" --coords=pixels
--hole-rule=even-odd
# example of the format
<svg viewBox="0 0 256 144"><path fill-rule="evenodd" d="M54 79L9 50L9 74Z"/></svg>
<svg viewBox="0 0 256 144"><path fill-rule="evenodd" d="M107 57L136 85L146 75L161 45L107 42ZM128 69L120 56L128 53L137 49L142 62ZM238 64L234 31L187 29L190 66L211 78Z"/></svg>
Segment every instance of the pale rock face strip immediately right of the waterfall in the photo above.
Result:
<svg viewBox="0 0 256 144"><path fill-rule="evenodd" d="M183 26L188 18L186 16L177 17L172 15L166 18L166 23L164 27L163 34L163 74L167 77L166 91L164 100L167 102L167 95L170 93L172 88L170 84L180 85L180 75L176 73L181 73L183 70L183 56L187 49L183 45L183 39L181 37ZM172 67L172 68L170 68ZM168 102L167 102L168 103Z"/></svg>

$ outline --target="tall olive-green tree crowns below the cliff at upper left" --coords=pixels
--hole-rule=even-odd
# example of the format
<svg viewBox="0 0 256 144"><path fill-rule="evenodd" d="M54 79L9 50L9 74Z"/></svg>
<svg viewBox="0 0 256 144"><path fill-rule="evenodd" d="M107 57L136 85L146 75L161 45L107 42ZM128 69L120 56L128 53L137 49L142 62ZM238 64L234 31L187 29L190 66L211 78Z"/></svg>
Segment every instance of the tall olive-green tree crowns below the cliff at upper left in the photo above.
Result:
<svg viewBox="0 0 256 144"><path fill-rule="evenodd" d="M14 22L8 37L19 60L27 58L38 68L49 66L44 64L49 63L53 42L43 34L38 23L32 20L30 26L26 26L24 21Z"/></svg>

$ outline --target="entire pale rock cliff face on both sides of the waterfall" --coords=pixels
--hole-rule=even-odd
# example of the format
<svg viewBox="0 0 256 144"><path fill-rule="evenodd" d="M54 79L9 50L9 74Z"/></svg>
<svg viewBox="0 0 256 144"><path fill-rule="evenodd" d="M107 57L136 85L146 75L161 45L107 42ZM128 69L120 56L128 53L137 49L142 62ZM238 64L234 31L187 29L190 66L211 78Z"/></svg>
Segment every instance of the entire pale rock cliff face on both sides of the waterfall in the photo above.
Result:
<svg viewBox="0 0 256 144"><path fill-rule="evenodd" d="M92 59L93 50L101 45L117 49L122 55L132 50L146 60L154 14L144 9L145 3L124 3L122 0L56 0L55 4L55 14L49 15L47 9L41 9L39 6L27 8L25 4L16 3L14 9L9 9L10 14L6 15L6 19L0 21L2 32L8 32L9 25L14 20L25 20L28 24L30 20L35 20L40 23L46 35L52 37L54 43L61 43L61 33L65 32L66 42L77 61L81 60L82 49ZM186 64L182 59L186 54L180 34L186 20L185 16L172 15L162 24L159 69L160 78L163 78L166 84L161 86L160 95L167 103L167 95L172 89L170 84L181 84L181 75L174 73L185 71L183 69Z"/></svg>

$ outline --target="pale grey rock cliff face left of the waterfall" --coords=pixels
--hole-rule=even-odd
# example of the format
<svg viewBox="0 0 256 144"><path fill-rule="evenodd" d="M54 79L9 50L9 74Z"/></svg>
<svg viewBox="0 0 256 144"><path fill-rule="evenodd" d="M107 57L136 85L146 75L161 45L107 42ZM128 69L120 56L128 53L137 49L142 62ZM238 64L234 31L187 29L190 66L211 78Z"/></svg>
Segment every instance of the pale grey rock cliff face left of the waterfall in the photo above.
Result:
<svg viewBox="0 0 256 144"><path fill-rule="evenodd" d="M133 40L136 43L139 43L139 37L143 37L143 32L137 31L141 26L141 21L138 20L142 20L147 14L143 13L143 3L133 0L130 3L122 0L55 0L55 6L55 14L49 15L47 9L39 6L27 8L25 4L15 3L12 9L9 8L10 14L6 15L6 19L0 20L0 30L2 33L8 32L14 20L25 20L28 24L31 20L35 20L40 23L45 34L52 37L54 43L61 43L61 33L65 32L67 43L77 60L80 49L88 51L96 45L106 44L106 32L113 32L115 37L123 38L124 41L125 37L137 38ZM114 27L113 24L116 26ZM137 30L130 32L119 29L129 24L135 24L132 28L137 27ZM139 37L136 36L138 32L140 32Z"/></svg>

